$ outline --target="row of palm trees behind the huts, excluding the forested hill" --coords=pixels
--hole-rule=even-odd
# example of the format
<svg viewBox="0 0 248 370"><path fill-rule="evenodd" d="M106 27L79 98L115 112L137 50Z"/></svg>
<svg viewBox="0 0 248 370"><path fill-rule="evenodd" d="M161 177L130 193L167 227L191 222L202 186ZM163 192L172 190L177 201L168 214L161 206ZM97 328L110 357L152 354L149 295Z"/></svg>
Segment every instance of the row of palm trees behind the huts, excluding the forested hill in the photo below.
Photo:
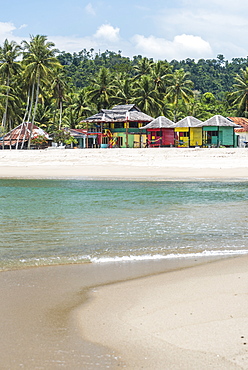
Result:
<svg viewBox="0 0 248 370"><path fill-rule="evenodd" d="M63 126L74 128L83 118L115 104L136 104L144 113L165 115L174 121L185 115L207 119L206 114L223 114L208 112L206 94L201 96L193 90L189 73L172 71L167 62L142 58L132 76L102 67L89 86L76 89L57 53L55 45L42 35L31 36L21 45L5 40L0 47L2 134L25 122L31 122L32 127L38 124L48 132ZM236 77L228 98L242 115L248 112L248 69ZM216 105L214 97L209 104L211 109ZM226 109L223 104L216 107Z"/></svg>

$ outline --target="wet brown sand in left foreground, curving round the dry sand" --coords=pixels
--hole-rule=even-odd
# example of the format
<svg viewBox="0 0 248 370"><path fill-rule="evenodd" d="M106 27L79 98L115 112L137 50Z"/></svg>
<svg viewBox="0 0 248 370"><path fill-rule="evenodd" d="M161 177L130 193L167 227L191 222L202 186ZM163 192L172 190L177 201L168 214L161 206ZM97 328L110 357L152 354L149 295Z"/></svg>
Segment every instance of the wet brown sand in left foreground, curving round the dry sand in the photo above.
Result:
<svg viewBox="0 0 248 370"><path fill-rule="evenodd" d="M87 340L84 329L89 330L89 326L86 322L84 328L81 321L85 316L81 307L86 302L93 302L94 293L101 286L110 286L117 281L134 282L133 279L139 277L197 263L202 261L183 258L46 266L1 272L0 368L125 367L125 356L122 351L111 348L111 343Z"/></svg>

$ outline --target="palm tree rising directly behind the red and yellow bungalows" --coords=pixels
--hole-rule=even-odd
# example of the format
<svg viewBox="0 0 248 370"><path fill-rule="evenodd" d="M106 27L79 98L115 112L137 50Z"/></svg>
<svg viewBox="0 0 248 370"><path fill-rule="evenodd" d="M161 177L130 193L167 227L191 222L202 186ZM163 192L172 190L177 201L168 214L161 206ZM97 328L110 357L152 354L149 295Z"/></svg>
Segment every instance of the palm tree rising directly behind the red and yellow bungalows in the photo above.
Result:
<svg viewBox="0 0 248 370"><path fill-rule="evenodd" d="M179 102L188 103L194 96L193 82L189 79L190 73L184 69L177 69L174 73L167 75L167 93L166 98L174 106L174 120L177 121Z"/></svg>

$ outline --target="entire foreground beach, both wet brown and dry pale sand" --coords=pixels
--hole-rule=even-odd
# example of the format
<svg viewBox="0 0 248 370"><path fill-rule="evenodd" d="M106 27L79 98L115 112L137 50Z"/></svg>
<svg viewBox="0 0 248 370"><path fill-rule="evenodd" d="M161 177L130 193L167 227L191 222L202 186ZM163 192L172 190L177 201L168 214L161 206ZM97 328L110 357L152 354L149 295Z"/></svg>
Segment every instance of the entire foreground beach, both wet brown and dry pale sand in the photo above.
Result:
<svg viewBox="0 0 248 370"><path fill-rule="evenodd" d="M247 263L2 272L0 368L247 369Z"/></svg>

